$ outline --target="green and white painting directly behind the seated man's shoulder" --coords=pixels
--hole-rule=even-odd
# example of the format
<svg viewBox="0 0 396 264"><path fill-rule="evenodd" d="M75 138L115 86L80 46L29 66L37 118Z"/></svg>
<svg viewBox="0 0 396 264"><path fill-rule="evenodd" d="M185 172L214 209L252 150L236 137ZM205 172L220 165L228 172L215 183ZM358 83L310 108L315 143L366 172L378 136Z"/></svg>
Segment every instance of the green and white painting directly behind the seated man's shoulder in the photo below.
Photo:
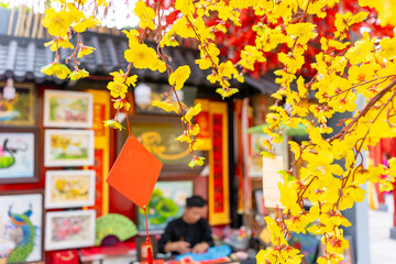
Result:
<svg viewBox="0 0 396 264"><path fill-rule="evenodd" d="M193 180L157 182L146 207L148 231L161 233L168 222L182 217L186 198L193 195ZM143 233L145 228L144 211L138 208L138 230Z"/></svg>

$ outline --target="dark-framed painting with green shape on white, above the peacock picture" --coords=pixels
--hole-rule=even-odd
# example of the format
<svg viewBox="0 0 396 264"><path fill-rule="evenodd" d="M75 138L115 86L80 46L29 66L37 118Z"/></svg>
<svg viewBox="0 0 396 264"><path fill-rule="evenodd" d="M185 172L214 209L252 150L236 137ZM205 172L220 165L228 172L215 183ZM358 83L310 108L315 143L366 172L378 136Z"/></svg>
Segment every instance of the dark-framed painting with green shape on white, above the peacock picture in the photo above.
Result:
<svg viewBox="0 0 396 264"><path fill-rule="evenodd" d="M38 134L35 129L1 129L0 184L38 182Z"/></svg>

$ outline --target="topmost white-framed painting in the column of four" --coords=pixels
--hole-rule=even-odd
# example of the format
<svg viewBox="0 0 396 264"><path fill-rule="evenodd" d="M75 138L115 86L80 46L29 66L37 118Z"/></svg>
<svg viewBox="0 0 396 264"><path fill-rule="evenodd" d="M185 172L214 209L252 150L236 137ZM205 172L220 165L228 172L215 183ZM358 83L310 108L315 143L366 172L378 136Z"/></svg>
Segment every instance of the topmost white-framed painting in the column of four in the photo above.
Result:
<svg viewBox="0 0 396 264"><path fill-rule="evenodd" d="M45 90L44 127L92 128L92 95L82 91Z"/></svg>

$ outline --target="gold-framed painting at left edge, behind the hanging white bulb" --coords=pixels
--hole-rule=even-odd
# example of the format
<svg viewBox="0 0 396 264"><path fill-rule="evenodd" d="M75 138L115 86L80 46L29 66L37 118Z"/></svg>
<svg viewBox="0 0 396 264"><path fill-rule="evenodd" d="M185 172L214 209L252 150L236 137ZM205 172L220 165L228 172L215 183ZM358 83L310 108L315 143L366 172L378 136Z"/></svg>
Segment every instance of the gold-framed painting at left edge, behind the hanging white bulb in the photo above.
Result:
<svg viewBox="0 0 396 264"><path fill-rule="evenodd" d="M0 81L0 127L34 125L35 98L33 84Z"/></svg>

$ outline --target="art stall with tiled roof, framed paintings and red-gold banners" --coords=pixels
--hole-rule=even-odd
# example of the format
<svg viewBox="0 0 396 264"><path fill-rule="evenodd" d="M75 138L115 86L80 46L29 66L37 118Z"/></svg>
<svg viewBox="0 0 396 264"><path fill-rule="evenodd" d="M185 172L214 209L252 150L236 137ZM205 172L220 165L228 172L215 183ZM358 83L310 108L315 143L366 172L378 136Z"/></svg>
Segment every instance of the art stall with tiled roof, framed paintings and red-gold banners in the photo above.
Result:
<svg viewBox="0 0 396 264"><path fill-rule="evenodd" d="M12 21L9 10L0 11L0 21ZM25 11L15 19L25 20ZM152 106L168 91L166 74L132 68L140 79L127 94L131 108L117 116L124 129L103 125L116 114L109 73L128 65L124 35L86 32L81 40L96 48L81 59L90 77L65 81L37 66L54 58L44 46L43 26L20 24L25 29L0 28L0 54L7 57L0 61L0 263L144 262L148 248L157 262L255 263L257 251L270 244L263 216L274 210L263 201L256 150L262 135L249 129L265 123L271 89L262 87L271 81L246 76L239 95L221 100L195 64L199 51L167 50L175 68L188 64L194 72L178 97L187 107L201 106L194 120L201 141L195 152L205 165L191 169L188 144L175 140L184 133L180 117ZM59 57L64 61L67 53L62 50ZM256 94L265 95L252 97ZM117 166L128 147L142 152ZM207 201L202 216L220 248L206 260L174 260L158 252L157 241L184 215L190 196Z"/></svg>

